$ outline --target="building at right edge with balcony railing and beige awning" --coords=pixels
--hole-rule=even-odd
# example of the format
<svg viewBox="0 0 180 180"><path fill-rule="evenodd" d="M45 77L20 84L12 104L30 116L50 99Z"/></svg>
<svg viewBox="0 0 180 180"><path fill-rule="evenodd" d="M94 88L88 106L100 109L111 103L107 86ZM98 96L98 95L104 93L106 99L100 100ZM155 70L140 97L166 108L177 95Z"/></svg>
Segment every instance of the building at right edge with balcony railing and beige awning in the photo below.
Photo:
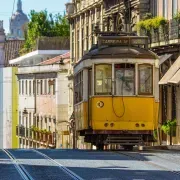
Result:
<svg viewBox="0 0 180 180"><path fill-rule="evenodd" d="M180 143L180 89L179 75L180 49L179 49L179 23L174 18L180 9L180 0L157 0L157 16L168 20L163 31L153 33L150 37L151 49L159 56L164 56L160 61L160 118L161 126L167 120L177 119L176 134L172 140L162 133L164 143Z"/></svg>

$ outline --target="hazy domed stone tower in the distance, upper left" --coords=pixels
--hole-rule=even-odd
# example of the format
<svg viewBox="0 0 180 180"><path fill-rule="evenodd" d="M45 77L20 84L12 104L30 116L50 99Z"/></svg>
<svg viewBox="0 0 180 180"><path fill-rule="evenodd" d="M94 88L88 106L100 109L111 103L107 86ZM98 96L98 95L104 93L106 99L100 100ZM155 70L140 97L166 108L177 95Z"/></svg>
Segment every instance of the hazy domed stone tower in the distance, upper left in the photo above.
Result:
<svg viewBox="0 0 180 180"><path fill-rule="evenodd" d="M26 24L29 22L28 17L22 10L22 1L17 1L17 10L10 18L8 35L9 39L22 39L24 38L24 30Z"/></svg>

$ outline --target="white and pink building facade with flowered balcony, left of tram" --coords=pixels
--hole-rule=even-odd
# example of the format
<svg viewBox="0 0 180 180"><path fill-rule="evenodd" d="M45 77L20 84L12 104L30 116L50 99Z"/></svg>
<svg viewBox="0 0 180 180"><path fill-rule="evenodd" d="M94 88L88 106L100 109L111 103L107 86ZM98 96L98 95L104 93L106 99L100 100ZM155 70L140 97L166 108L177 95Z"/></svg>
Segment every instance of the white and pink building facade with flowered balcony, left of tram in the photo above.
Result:
<svg viewBox="0 0 180 180"><path fill-rule="evenodd" d="M68 148L68 65L18 68L20 148Z"/></svg>

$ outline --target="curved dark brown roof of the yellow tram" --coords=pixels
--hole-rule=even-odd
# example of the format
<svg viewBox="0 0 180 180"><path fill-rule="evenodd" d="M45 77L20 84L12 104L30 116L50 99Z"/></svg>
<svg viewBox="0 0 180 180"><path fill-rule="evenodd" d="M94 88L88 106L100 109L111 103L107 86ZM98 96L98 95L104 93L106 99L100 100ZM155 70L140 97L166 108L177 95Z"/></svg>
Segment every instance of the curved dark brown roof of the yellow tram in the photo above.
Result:
<svg viewBox="0 0 180 180"><path fill-rule="evenodd" d="M137 58L137 59L157 59L158 56L144 48L133 46L104 46L92 48L79 61L87 59L105 59L105 58Z"/></svg>

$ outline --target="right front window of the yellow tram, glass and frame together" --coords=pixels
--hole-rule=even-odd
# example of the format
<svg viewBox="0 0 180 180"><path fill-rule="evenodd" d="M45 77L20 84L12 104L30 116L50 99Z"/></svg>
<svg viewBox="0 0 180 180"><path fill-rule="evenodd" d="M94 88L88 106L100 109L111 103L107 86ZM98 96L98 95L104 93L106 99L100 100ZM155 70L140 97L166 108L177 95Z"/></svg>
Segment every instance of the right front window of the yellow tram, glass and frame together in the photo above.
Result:
<svg viewBox="0 0 180 180"><path fill-rule="evenodd" d="M153 94L153 68L151 65L139 65L139 94Z"/></svg>

